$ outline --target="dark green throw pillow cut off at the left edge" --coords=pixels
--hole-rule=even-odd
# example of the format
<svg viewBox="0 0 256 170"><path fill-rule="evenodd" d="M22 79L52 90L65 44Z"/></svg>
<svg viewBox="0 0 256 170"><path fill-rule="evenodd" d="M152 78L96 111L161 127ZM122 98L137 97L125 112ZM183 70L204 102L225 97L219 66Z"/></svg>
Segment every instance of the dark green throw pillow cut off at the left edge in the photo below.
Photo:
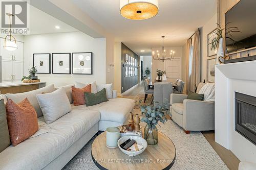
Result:
<svg viewBox="0 0 256 170"><path fill-rule="evenodd" d="M0 152L4 151L11 144L4 99L0 100L0 141Z"/></svg>

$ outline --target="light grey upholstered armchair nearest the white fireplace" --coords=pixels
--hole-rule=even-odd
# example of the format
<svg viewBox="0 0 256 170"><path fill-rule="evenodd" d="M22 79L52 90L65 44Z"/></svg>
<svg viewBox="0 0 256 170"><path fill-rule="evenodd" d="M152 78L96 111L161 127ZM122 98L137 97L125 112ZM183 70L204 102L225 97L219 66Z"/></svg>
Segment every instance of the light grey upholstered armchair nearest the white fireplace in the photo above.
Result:
<svg viewBox="0 0 256 170"><path fill-rule="evenodd" d="M197 92L204 83L198 85ZM186 94L170 94L170 114L185 133L214 130L215 103L188 100Z"/></svg>

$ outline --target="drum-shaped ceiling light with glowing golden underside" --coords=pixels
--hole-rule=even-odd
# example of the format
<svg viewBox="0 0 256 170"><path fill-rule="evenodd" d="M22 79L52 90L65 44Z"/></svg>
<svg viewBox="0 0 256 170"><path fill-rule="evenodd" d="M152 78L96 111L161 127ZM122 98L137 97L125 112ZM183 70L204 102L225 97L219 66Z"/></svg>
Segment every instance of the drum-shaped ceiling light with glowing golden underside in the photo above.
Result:
<svg viewBox="0 0 256 170"><path fill-rule="evenodd" d="M143 20L156 16L158 0L120 0L120 14L127 19Z"/></svg>

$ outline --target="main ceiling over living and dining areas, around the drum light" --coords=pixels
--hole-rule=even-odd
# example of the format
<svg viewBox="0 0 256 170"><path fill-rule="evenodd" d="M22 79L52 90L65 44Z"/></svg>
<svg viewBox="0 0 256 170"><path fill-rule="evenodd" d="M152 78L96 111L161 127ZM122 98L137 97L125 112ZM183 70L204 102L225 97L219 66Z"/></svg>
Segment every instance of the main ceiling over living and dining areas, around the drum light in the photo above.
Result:
<svg viewBox="0 0 256 170"><path fill-rule="evenodd" d="M119 14L119 0L72 2L138 55L151 55L152 47L183 46L217 12L216 0L159 0L159 13L147 20L129 20ZM140 52L145 50L145 52Z"/></svg>

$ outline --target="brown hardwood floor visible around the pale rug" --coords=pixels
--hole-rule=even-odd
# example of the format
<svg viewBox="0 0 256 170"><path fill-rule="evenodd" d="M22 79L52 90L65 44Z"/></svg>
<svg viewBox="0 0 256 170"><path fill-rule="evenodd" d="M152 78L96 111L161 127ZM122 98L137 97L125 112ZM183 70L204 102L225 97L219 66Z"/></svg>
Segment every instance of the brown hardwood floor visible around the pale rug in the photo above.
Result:
<svg viewBox="0 0 256 170"><path fill-rule="evenodd" d="M143 89L142 84L138 85L134 90L125 95L119 96L120 98L129 98L134 99L137 94ZM166 118L170 119L169 116ZM206 140L210 143L211 147L216 151L216 153L221 157L223 162L227 165L230 170L238 170L238 165L240 160L226 148L222 147L219 143L215 141L215 133L214 131L202 131L202 134L206 138Z"/></svg>

